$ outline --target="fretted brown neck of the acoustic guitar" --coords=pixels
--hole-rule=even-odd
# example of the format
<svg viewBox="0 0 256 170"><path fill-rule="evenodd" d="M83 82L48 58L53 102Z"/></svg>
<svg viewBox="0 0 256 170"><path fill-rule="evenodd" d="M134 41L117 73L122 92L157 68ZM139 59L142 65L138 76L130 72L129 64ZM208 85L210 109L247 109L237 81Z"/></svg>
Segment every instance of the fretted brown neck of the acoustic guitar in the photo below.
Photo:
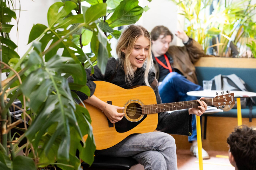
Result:
<svg viewBox="0 0 256 170"><path fill-rule="evenodd" d="M213 105L213 98L204 99L203 100L208 106ZM168 112L173 110L182 110L182 109L190 109L197 108L200 106L197 100L189 100L189 101L180 101L174 103L162 103L162 104L150 104L142 106L142 114L152 114L159 112Z"/></svg>

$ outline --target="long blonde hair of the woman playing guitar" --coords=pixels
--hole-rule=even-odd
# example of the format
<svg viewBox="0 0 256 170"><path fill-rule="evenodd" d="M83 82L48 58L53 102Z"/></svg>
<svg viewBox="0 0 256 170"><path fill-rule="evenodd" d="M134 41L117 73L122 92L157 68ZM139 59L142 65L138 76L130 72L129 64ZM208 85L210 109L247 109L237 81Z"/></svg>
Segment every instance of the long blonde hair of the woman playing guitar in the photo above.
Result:
<svg viewBox="0 0 256 170"><path fill-rule="evenodd" d="M153 59L151 54L151 36L146 28L134 24L126 27L125 30L122 31L122 34L118 39L116 54L119 58L120 66L122 66L123 70L125 71L125 81L128 81L128 83L131 85L131 80L134 79L135 71L131 66L130 55L133 51L134 43L140 36L144 36L149 40L149 54L148 56L146 56L145 59L146 68L144 73L144 83L147 86L150 86L148 82L148 73L149 70L152 68ZM125 49L125 53L122 52L122 49Z"/></svg>

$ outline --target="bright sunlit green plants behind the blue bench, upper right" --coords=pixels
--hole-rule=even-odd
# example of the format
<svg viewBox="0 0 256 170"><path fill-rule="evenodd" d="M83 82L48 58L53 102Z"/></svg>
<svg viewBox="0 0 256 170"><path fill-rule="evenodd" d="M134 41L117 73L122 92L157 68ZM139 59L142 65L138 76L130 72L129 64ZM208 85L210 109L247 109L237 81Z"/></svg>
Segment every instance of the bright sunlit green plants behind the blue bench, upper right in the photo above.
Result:
<svg viewBox="0 0 256 170"><path fill-rule="evenodd" d="M172 0L187 20L187 34L197 40L207 49L217 46L216 55L226 55L227 45L234 36L233 43L241 43L242 37L255 36L255 22L252 16L256 4L251 0L239 2L219 1L211 15L207 15L213 0ZM254 28L254 29L253 29ZM210 41L215 37L217 43L213 46ZM228 53L227 55L230 55Z"/></svg>

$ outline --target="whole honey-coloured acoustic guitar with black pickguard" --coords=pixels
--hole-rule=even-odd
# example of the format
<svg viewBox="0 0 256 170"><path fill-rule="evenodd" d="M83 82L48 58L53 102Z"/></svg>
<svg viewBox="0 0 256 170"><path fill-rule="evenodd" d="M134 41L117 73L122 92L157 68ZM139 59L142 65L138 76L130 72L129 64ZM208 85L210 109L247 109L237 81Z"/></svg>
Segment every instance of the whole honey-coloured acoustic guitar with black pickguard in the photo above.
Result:
<svg viewBox="0 0 256 170"><path fill-rule="evenodd" d="M116 145L130 134L148 133L157 128L159 112L196 108L200 106L197 100L175 103L157 104L155 92L149 86L138 86L133 89L124 89L117 85L94 81L96 89L94 95L115 106L124 107L117 110L125 113L123 119L112 124L102 110L88 103L85 107L91 116L91 125L96 143L96 149L107 149ZM234 93L204 99L208 106L222 106L235 104ZM82 106L82 103L80 103ZM84 136L86 140L87 136Z"/></svg>

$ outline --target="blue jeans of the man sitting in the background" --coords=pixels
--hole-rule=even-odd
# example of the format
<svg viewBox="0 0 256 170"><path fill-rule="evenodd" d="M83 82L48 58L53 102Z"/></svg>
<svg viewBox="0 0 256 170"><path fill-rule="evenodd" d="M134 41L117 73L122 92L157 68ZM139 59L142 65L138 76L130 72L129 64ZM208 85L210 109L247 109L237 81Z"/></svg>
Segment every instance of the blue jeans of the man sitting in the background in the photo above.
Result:
<svg viewBox="0 0 256 170"><path fill-rule="evenodd" d="M188 91L203 90L202 86L194 84L179 73L169 73L162 84L158 87L159 94L163 103L172 103L177 101L197 100L198 97L188 96ZM189 142L197 140L197 126L195 115L192 115L192 136L189 136Z"/></svg>

